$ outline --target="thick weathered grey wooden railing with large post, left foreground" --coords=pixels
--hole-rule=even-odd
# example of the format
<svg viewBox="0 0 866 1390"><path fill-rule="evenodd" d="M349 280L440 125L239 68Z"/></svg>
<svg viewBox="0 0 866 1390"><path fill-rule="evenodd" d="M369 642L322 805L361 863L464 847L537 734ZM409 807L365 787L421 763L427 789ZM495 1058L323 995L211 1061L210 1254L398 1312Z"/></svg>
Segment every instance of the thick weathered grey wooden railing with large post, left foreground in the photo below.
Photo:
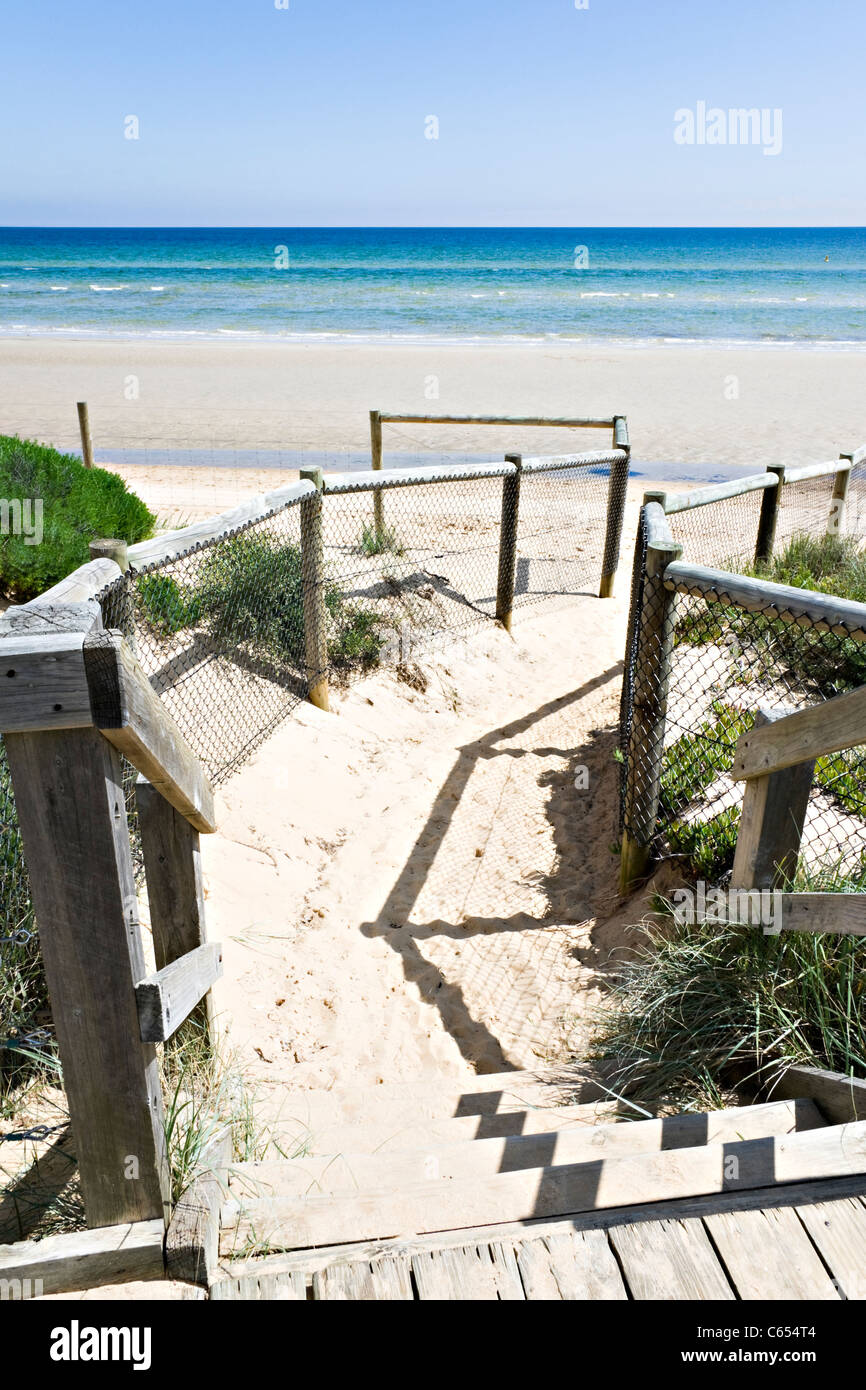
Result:
<svg viewBox="0 0 866 1390"><path fill-rule="evenodd" d="M213 1031L220 947L204 930L199 834L215 830L199 760L82 566L0 621L4 735L89 1226L165 1219L156 1044L197 1009ZM156 970L147 972L124 801L135 794Z"/></svg>

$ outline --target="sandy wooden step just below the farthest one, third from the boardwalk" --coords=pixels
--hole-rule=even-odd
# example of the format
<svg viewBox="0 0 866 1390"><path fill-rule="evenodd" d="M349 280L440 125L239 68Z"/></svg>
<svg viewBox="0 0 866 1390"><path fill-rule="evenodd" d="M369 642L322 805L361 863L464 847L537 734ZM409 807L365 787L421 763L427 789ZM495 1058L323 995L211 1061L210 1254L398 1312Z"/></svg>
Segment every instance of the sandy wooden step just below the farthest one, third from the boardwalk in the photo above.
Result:
<svg viewBox="0 0 866 1390"><path fill-rule="evenodd" d="M321 1120L316 1129L303 1120L284 1119L270 1126L286 1158L311 1154L377 1154L411 1148L439 1148L471 1140L507 1138L516 1134L548 1134L550 1130L592 1129L621 1113L613 1101L560 1105L552 1109L503 1111L499 1115L463 1115L457 1119ZM634 1113L634 1112L631 1112Z"/></svg>

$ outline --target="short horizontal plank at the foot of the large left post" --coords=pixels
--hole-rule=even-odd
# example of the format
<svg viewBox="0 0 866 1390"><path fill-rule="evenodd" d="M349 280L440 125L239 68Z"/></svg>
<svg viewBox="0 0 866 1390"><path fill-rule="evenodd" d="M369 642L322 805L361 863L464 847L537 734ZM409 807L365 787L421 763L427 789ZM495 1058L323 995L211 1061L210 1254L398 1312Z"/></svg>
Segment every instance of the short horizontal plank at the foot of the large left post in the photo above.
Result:
<svg viewBox="0 0 866 1390"><path fill-rule="evenodd" d="M164 1236L160 1218L0 1245L0 1280L29 1280L31 1291L38 1287L47 1295L164 1279Z"/></svg>

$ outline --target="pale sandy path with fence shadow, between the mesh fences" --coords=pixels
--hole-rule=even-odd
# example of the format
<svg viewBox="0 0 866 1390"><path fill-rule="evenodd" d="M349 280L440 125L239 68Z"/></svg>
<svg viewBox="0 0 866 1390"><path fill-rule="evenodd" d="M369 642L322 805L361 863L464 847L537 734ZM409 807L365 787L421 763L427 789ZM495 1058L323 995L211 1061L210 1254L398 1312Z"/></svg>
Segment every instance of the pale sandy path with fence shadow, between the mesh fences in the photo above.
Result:
<svg viewBox="0 0 866 1390"><path fill-rule="evenodd" d="M204 841L218 1004L288 1106L306 1088L531 1066L580 1048L613 934L623 602L489 627L309 705ZM575 788L575 769L588 787Z"/></svg>

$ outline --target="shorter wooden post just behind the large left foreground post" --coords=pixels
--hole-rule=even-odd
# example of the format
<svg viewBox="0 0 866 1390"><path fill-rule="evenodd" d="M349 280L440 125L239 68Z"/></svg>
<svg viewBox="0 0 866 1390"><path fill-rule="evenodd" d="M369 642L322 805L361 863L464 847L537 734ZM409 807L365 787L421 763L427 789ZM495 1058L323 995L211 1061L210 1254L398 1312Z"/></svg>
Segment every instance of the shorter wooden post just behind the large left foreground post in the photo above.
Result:
<svg viewBox="0 0 866 1390"><path fill-rule="evenodd" d="M157 970L207 942L199 831L145 777L135 784ZM213 997L190 1015L215 1042Z"/></svg>

